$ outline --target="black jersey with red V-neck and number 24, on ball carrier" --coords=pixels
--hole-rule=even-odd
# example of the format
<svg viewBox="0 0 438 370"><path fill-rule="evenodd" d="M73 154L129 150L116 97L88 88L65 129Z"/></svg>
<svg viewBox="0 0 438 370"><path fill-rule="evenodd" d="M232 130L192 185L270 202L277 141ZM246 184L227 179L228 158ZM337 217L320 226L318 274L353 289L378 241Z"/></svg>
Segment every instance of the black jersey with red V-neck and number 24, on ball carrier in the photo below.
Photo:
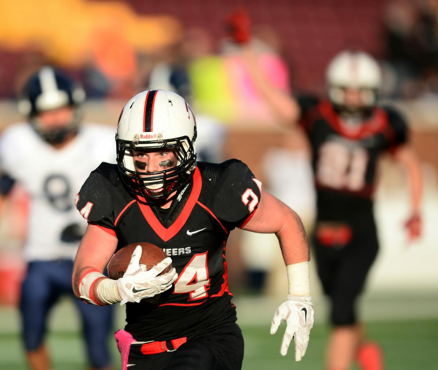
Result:
<svg viewBox="0 0 438 370"><path fill-rule="evenodd" d="M125 330L138 341L168 340L236 321L225 244L230 230L254 214L260 195L261 183L246 164L198 162L166 215L133 198L117 165L102 163L93 171L78 194L81 214L115 235L117 250L136 242L159 246L178 273L170 290L127 303Z"/></svg>

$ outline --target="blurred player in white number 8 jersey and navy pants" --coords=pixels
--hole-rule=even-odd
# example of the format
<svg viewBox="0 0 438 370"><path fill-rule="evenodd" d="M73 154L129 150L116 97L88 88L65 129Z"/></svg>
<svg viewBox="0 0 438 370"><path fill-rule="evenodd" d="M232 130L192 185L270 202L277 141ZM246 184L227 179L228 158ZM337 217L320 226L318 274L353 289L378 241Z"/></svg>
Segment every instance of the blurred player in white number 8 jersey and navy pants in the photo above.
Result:
<svg viewBox="0 0 438 370"><path fill-rule="evenodd" d="M115 163L115 130L80 125L84 99L84 90L71 77L43 67L28 80L19 101L28 122L7 127L0 137L0 206L16 183L30 198L20 312L28 364L35 370L51 368L44 344L50 309L61 295L73 296L73 259L86 228L74 195L102 159ZM111 306L74 302L89 365L109 369Z"/></svg>

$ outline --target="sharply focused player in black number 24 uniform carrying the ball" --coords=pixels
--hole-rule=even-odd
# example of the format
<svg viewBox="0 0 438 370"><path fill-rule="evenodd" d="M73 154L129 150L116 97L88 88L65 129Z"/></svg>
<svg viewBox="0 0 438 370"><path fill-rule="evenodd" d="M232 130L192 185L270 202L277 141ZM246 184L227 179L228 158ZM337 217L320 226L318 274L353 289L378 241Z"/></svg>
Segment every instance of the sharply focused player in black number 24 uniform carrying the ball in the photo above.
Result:
<svg viewBox="0 0 438 370"><path fill-rule="evenodd" d="M244 342L228 288L225 244L235 227L276 233L287 265L289 295L271 333L287 323L295 359L313 325L308 245L297 214L235 159L196 162L196 122L179 95L149 90L127 102L117 128L117 165L102 163L76 202L87 220L73 287L90 304L126 303L116 333L123 369L240 369ZM147 241L168 258L145 271L138 247L120 279L102 275L114 252ZM159 275L172 263L170 272Z"/></svg>

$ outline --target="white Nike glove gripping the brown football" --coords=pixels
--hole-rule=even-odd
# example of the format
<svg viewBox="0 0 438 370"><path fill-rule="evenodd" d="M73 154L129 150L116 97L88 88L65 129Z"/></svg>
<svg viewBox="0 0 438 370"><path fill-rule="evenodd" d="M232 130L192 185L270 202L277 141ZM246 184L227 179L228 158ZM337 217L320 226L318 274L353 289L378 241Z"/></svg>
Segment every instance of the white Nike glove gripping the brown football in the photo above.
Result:
<svg viewBox="0 0 438 370"><path fill-rule="evenodd" d="M138 245L132 253L131 262L124 273L124 276L117 280L117 290L122 301L140 302L143 298L153 297L172 287L178 274L175 268L158 276L166 267L172 263L170 257L164 258L152 269L146 271L146 266L140 264L141 246Z"/></svg>

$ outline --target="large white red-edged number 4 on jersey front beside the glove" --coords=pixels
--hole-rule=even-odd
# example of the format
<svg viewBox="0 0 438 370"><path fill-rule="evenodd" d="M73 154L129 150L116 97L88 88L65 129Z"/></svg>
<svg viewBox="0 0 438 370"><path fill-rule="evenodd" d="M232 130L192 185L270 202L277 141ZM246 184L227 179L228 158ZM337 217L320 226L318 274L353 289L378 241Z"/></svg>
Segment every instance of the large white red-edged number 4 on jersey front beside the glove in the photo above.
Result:
<svg viewBox="0 0 438 370"><path fill-rule="evenodd" d="M194 255L175 282L174 294L189 293L188 300L207 298L210 286L207 269L208 252Z"/></svg>

